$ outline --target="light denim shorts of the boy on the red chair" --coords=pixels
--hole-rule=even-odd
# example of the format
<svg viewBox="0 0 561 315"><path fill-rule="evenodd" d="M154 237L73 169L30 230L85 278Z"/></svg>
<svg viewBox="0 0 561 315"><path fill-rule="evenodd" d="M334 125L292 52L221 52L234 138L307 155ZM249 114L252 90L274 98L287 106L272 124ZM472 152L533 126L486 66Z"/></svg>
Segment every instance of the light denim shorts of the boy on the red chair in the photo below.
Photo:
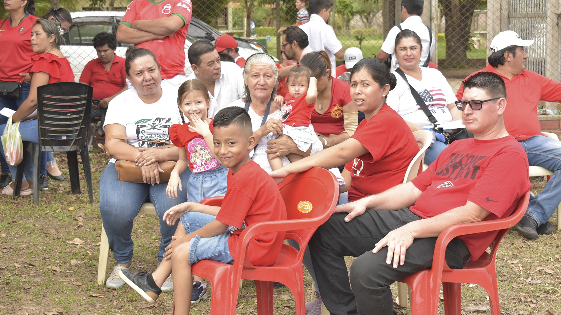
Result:
<svg viewBox="0 0 561 315"><path fill-rule="evenodd" d="M185 233L190 234L205 224L216 219L215 216L200 212L187 212L181 216L181 223ZM229 229L215 237L201 238L199 235L191 239L189 243L189 263L194 264L201 260L214 260L224 263L233 263L234 258L228 247Z"/></svg>

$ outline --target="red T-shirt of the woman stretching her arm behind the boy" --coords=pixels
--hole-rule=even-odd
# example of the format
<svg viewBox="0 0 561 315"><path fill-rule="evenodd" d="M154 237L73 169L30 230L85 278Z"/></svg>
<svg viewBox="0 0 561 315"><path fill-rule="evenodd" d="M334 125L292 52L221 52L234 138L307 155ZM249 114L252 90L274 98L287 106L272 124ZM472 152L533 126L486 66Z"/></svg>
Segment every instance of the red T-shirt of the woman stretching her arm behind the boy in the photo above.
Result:
<svg viewBox="0 0 561 315"><path fill-rule="evenodd" d="M368 153L345 165L351 172L349 201L403 183L407 167L419 152L411 129L388 104L384 104L370 121L360 122L351 138L358 140Z"/></svg>

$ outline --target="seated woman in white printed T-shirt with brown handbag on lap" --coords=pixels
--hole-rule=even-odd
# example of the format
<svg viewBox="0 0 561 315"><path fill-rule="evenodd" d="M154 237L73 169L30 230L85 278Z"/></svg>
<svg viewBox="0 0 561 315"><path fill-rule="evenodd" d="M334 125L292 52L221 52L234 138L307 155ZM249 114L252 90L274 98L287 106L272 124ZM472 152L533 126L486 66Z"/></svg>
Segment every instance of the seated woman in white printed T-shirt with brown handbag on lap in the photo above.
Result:
<svg viewBox="0 0 561 315"><path fill-rule="evenodd" d="M136 49L125 61L127 79L133 89L117 95L110 103L103 128L106 139L126 136L132 140L110 139L105 142L109 164L99 180L99 209L103 227L109 239L109 248L117 265L105 285L118 289L125 284L119 277L120 269L130 270L132 263L132 222L142 203L154 204L160 217L160 247L158 262L163 259L165 247L171 242L176 226L162 221L164 212L172 206L187 201L187 194L172 199L165 193L167 183L159 182L159 162L177 161L177 147L155 149L163 144L149 141L169 141L168 128L181 123L177 110L177 89L172 85L160 86L160 66L148 49ZM136 161L141 166L145 183L122 182L115 169L116 160ZM183 187L187 187L190 170L180 175ZM171 278L162 289L173 290Z"/></svg>

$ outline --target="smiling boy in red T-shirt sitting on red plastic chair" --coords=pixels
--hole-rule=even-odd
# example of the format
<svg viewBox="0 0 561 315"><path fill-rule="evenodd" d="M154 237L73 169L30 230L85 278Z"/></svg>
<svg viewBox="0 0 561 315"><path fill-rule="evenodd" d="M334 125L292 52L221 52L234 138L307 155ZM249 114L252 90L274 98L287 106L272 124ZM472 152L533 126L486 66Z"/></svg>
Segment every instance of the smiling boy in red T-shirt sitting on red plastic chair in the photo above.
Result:
<svg viewBox="0 0 561 315"><path fill-rule="evenodd" d="M200 260L233 263L238 238L246 226L286 220L286 207L277 184L249 154L255 146L249 114L240 107L220 110L213 122L214 154L229 168L222 207L185 202L165 212L173 225L181 219L164 260L153 274L119 271L122 279L154 303L160 287L173 271L176 314L188 314L191 300L191 265ZM280 253L284 232L261 233L250 240L247 257L254 266L271 265ZM173 260L172 258L173 253ZM245 254L245 253L242 253Z"/></svg>

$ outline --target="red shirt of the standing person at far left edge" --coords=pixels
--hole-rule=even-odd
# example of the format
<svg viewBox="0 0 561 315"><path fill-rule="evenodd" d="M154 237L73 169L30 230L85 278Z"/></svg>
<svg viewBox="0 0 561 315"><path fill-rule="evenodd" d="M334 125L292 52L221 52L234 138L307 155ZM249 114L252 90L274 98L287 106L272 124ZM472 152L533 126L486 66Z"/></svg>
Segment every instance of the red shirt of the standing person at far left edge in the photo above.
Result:
<svg viewBox="0 0 561 315"><path fill-rule="evenodd" d="M31 29L38 17L25 14L20 24L12 27L10 17L0 20L0 82L22 81L20 73L31 68L31 57L37 55L31 50Z"/></svg>

